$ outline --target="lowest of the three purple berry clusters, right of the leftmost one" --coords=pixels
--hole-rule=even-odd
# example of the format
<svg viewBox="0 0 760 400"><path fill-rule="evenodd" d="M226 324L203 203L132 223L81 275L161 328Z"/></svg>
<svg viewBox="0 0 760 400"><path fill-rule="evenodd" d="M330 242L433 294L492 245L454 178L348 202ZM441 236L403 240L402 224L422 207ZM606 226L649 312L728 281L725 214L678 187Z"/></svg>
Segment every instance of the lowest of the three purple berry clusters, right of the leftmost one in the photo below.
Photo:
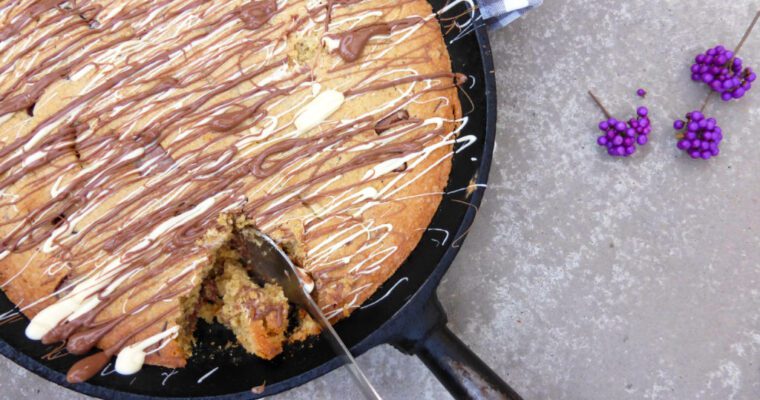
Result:
<svg viewBox="0 0 760 400"><path fill-rule="evenodd" d="M686 121L676 120L673 128L681 132L678 148L685 151L691 158L708 160L720 153L720 141L723 131L715 118L705 118L699 111L686 114Z"/></svg>

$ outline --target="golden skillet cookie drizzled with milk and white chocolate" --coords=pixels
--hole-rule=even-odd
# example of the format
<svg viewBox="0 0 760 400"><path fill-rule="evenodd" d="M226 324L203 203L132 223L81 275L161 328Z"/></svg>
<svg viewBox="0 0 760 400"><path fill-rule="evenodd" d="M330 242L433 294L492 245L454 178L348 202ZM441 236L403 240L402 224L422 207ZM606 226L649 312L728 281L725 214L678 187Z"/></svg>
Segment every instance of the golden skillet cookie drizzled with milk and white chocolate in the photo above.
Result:
<svg viewBox="0 0 760 400"><path fill-rule="evenodd" d="M437 209L461 82L424 0L0 1L0 287L32 339L182 367L244 220L344 318ZM240 271L246 348L316 333L240 328Z"/></svg>

